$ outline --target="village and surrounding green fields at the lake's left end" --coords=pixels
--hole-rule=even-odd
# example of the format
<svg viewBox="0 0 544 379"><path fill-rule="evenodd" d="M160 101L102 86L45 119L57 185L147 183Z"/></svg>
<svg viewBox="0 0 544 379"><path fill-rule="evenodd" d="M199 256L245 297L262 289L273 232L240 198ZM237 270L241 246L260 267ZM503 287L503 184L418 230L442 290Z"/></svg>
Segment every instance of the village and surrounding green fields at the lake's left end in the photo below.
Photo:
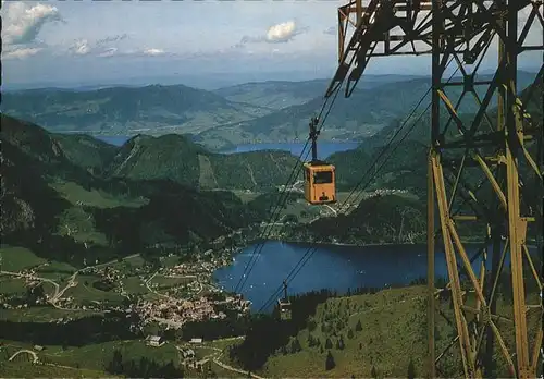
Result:
<svg viewBox="0 0 544 379"><path fill-rule="evenodd" d="M96 262L59 279L50 279L50 273L44 278L40 269L48 264L18 272L2 271L2 276L24 281L27 291L24 295L4 294L0 303L4 309L50 305L63 310L134 313L143 325L157 322L173 329L189 321L224 319L249 311L249 301L227 295L213 283L213 271L232 261L228 255L214 256L209 250L195 261L161 262L152 273L147 264L131 265L134 258ZM122 301L112 301L115 295Z"/></svg>

